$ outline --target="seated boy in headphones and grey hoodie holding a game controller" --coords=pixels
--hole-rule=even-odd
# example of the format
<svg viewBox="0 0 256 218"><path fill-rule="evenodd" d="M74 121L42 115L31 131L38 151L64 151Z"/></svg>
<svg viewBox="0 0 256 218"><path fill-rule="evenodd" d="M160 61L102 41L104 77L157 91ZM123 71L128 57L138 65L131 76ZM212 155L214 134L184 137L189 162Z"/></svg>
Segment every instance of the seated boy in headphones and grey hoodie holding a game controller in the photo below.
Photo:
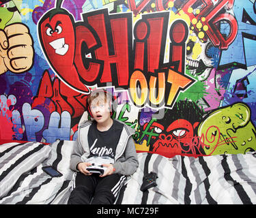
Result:
<svg viewBox="0 0 256 218"><path fill-rule="evenodd" d="M104 89L91 92L87 110L94 119L81 123L76 146L71 155L70 168L76 171L75 188L68 204L113 204L126 176L138 166L137 153L132 139L133 129L111 118L113 100ZM92 157L109 158L102 163L104 174L90 173Z"/></svg>

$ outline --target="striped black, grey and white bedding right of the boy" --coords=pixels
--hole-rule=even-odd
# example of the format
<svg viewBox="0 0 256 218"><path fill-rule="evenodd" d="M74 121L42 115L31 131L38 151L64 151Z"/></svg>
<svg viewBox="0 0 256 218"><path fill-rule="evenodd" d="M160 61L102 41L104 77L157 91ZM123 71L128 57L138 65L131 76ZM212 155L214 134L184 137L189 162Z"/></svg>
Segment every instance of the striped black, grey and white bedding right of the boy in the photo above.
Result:
<svg viewBox="0 0 256 218"><path fill-rule="evenodd" d="M255 204L256 153L167 159L139 153L139 169L124 191L122 204ZM146 172L156 187L140 191Z"/></svg>

